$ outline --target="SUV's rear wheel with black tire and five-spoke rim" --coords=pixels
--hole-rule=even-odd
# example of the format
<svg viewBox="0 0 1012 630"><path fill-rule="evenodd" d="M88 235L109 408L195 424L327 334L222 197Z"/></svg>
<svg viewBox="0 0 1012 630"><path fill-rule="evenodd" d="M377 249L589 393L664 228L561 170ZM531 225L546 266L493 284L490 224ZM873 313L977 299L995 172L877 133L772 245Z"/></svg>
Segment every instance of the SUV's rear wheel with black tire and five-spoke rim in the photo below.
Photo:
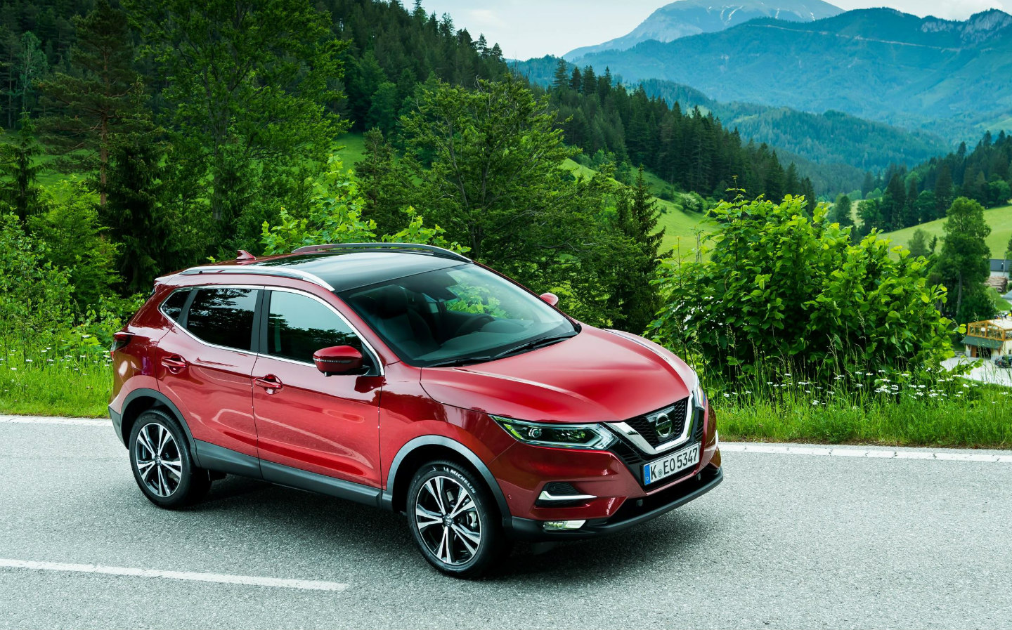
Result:
<svg viewBox="0 0 1012 630"><path fill-rule="evenodd" d="M210 487L210 476L190 457L179 422L162 410L138 417L130 434L130 464L144 496L159 508L191 506Z"/></svg>

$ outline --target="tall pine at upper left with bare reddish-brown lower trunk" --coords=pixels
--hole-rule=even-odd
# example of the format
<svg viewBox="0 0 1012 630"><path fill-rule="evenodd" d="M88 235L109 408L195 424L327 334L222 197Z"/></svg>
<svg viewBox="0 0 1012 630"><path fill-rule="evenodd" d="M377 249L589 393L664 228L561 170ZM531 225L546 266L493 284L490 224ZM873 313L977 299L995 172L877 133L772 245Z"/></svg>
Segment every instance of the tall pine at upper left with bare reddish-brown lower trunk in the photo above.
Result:
<svg viewBox="0 0 1012 630"><path fill-rule="evenodd" d="M122 11L99 0L87 16L76 17L74 25L72 73L56 73L38 85L43 104L52 111L39 127L51 151L65 156L64 166L86 171L97 166L101 189L117 136L144 124L145 94L134 70L134 47ZM104 193L100 203L105 203Z"/></svg>

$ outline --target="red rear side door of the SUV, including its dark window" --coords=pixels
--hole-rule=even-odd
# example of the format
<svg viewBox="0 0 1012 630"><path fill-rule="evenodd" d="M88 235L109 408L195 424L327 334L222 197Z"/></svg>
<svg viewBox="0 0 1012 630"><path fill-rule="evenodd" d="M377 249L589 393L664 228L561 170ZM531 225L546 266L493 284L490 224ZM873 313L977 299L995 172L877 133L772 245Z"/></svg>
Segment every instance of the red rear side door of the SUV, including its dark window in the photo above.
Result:
<svg viewBox="0 0 1012 630"><path fill-rule="evenodd" d="M158 344L159 389L193 438L256 457L254 319L259 287L198 287L173 294L162 312L175 325ZM181 292L181 291L177 291Z"/></svg>

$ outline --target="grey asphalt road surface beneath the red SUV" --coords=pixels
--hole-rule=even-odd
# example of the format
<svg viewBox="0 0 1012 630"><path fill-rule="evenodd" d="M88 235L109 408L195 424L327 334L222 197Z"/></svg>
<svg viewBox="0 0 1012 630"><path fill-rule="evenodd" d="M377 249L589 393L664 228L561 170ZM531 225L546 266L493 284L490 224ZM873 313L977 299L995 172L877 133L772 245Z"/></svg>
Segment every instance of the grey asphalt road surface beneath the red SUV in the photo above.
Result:
<svg viewBox="0 0 1012 630"><path fill-rule="evenodd" d="M400 516L234 477L166 512L111 428L0 422L0 628L1012 628L1007 458L724 462L699 501L610 538L518 548L467 582L430 569Z"/></svg>

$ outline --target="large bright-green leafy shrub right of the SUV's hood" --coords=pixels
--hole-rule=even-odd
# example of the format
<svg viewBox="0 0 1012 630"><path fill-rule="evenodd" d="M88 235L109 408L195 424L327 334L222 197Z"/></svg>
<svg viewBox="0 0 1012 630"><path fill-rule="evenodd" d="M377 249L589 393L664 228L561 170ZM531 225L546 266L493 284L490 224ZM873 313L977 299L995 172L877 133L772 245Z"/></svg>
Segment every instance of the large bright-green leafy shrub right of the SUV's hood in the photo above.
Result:
<svg viewBox="0 0 1012 630"><path fill-rule="evenodd" d="M946 292L928 284L927 261L876 233L852 245L826 210L810 217L789 195L720 203L712 252L663 266L655 338L725 376L769 361L824 377L922 370L952 356Z"/></svg>

